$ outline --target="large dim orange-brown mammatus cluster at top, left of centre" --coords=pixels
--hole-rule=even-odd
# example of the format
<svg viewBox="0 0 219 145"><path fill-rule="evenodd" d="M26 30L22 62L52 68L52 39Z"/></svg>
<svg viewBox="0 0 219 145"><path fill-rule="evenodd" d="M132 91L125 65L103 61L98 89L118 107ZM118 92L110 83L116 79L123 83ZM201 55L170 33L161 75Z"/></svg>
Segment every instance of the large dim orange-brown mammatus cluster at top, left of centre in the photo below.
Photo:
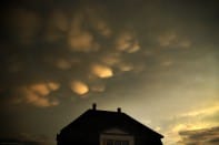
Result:
<svg viewBox="0 0 219 145"><path fill-rule="evenodd" d="M94 35L108 38L111 34L104 20L98 18L98 11L88 8L73 17L70 27L68 42L70 49L78 52L98 51L101 48ZM94 30L94 33L91 30Z"/></svg>

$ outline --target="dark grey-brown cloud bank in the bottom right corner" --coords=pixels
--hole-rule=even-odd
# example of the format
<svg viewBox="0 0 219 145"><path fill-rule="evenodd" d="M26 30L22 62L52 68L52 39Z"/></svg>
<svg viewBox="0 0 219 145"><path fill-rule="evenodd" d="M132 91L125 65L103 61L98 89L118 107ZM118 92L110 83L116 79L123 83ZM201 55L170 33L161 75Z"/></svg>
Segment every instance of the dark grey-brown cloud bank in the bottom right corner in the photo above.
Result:
<svg viewBox="0 0 219 145"><path fill-rule="evenodd" d="M186 145L217 145L219 143L219 127L198 131L183 131L180 132L179 135L182 137L180 143Z"/></svg>

